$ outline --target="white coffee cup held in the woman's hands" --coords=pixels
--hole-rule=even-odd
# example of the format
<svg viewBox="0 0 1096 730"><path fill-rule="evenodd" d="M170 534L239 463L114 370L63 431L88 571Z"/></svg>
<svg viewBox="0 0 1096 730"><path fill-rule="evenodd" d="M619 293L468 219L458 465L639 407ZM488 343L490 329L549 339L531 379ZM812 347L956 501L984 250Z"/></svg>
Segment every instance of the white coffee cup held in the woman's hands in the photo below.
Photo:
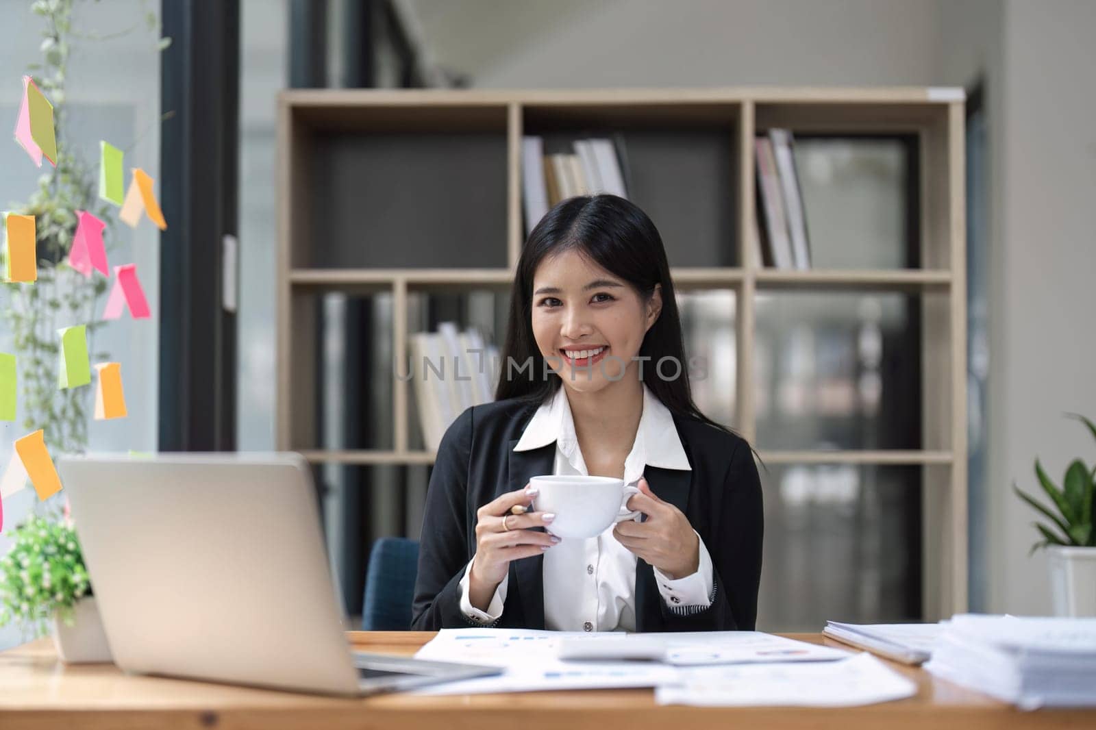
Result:
<svg viewBox="0 0 1096 730"><path fill-rule="evenodd" d="M533 509L556 514L545 529L559 537L594 537L614 523L642 518L641 512L629 512L626 506L639 490L625 487L624 479L545 475L530 478L529 483L537 489Z"/></svg>

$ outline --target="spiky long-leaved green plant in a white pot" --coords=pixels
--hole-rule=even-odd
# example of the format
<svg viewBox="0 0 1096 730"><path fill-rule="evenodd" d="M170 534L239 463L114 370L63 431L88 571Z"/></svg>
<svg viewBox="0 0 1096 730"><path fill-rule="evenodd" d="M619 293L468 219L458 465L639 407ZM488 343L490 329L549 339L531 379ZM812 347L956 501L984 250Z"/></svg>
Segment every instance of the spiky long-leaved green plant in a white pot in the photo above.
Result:
<svg viewBox="0 0 1096 730"><path fill-rule="evenodd" d="M1070 413L1088 427L1096 438L1096 424L1083 415ZM1042 539L1031 546L1031 551L1046 548L1050 554L1050 580L1054 613L1059 616L1096 616L1096 468L1091 469L1077 458L1070 463L1062 479L1055 484L1035 460L1039 487L1050 498L1047 506L1021 491L1013 489L1025 502L1047 517L1050 523L1034 523Z"/></svg>

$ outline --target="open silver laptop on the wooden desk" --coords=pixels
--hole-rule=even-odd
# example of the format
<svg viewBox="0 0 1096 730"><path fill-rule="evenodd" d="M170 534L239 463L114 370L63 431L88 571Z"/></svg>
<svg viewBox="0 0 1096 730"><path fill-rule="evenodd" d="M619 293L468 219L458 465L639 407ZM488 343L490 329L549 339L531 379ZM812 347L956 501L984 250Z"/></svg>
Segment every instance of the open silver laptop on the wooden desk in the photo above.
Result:
<svg viewBox="0 0 1096 730"><path fill-rule="evenodd" d="M297 454L64 457L59 470L127 672L344 695L500 673L351 651Z"/></svg>

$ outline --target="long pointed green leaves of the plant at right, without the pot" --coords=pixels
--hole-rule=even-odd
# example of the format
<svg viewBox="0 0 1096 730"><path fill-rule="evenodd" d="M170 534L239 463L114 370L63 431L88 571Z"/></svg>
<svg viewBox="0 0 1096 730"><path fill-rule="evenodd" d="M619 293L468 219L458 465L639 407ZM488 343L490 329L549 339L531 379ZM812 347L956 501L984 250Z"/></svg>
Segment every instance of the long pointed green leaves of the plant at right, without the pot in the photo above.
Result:
<svg viewBox="0 0 1096 730"><path fill-rule="evenodd" d="M1096 438L1096 424L1077 413L1069 415L1083 422L1093 437ZM1082 459L1074 459L1065 469L1061 489L1050 480L1038 458L1035 460L1035 475L1039 479L1039 486L1053 502L1058 513L1055 514L1013 483L1013 490L1019 498L1046 515L1053 525L1051 527L1039 522L1032 523L1043 539L1031 546L1031 552L1048 545L1096 547L1096 529L1093 529L1096 468L1089 470Z"/></svg>

